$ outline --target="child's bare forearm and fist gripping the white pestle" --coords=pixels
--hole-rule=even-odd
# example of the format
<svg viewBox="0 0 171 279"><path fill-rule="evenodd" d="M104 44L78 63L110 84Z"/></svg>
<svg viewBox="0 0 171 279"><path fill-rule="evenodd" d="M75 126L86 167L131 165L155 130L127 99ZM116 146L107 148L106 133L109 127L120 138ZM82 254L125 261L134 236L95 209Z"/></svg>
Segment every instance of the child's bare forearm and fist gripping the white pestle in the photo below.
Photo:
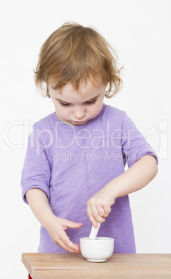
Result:
<svg viewBox="0 0 171 279"><path fill-rule="evenodd" d="M111 180L87 202L87 214L93 226L102 223L111 212L115 199L145 187L157 174L156 159L145 155L114 180Z"/></svg>

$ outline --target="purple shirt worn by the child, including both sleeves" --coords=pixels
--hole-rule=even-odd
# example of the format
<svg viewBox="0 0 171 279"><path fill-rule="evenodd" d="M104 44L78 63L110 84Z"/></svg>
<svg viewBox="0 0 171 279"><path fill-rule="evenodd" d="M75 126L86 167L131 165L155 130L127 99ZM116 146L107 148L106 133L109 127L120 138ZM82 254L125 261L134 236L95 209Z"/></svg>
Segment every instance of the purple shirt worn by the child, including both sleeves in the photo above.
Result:
<svg viewBox="0 0 171 279"><path fill-rule="evenodd" d="M87 201L109 181L123 174L143 155L156 154L121 110L103 104L100 114L86 124L69 126L55 112L37 121L28 138L21 176L22 195L28 189L42 189L53 213L83 223L66 230L73 243L88 237L91 222ZM116 198L98 236L115 239L114 253L136 253L129 197ZM65 253L41 226L38 252Z"/></svg>

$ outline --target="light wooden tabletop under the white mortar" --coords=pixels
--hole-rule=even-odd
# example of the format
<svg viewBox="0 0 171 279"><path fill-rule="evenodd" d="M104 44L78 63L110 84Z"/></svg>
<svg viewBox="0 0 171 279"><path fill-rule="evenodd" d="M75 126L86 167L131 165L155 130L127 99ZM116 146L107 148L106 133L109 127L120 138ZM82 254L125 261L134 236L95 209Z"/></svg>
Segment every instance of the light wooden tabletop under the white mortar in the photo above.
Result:
<svg viewBox="0 0 171 279"><path fill-rule="evenodd" d="M171 278L171 254L113 254L107 262L87 262L74 253L23 253L33 279Z"/></svg>

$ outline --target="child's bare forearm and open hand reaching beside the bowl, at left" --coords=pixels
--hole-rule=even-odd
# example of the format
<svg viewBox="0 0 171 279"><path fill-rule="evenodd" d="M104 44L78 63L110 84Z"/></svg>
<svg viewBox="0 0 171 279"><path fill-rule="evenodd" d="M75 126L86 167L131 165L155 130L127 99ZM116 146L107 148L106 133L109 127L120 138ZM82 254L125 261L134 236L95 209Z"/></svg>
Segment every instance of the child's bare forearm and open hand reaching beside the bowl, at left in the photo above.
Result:
<svg viewBox="0 0 171 279"><path fill-rule="evenodd" d="M80 253L79 244L73 244L66 235L67 228L80 228L82 223L75 223L66 219L56 217L48 203L46 194L40 189L30 189L26 192L26 198L35 217L42 224L53 239L55 244L71 253Z"/></svg>

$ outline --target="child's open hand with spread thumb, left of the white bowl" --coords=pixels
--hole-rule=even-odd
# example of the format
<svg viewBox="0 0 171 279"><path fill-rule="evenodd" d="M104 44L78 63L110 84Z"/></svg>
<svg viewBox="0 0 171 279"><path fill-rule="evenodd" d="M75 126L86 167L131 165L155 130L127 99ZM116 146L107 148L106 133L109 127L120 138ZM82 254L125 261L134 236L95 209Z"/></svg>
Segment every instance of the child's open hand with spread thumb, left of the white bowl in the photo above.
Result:
<svg viewBox="0 0 171 279"><path fill-rule="evenodd" d="M80 253L80 245L73 244L68 235L66 235L65 230L67 230L67 228L81 227L82 223L75 223L66 219L58 218L53 215L53 217L48 220L46 229L48 230L48 233L55 244L71 253Z"/></svg>

